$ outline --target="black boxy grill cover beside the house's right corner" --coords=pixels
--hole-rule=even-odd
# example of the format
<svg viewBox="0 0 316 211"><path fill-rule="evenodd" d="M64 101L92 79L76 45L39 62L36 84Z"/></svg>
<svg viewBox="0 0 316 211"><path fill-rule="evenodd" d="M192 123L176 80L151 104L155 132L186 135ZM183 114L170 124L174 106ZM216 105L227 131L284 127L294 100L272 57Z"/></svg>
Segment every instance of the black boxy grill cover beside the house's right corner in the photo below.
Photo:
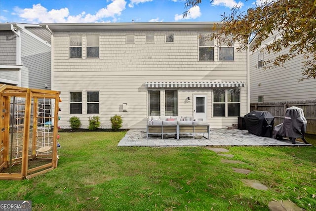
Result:
<svg viewBox="0 0 316 211"><path fill-rule="evenodd" d="M268 111L251 111L244 116L244 120L249 133L272 137L275 118Z"/></svg>

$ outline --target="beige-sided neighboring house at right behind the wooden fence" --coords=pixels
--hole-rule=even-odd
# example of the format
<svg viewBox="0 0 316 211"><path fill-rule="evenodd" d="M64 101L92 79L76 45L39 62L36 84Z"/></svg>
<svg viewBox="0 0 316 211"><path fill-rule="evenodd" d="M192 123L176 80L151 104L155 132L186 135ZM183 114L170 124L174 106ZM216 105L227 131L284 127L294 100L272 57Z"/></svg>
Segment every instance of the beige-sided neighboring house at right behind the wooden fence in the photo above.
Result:
<svg viewBox="0 0 316 211"><path fill-rule="evenodd" d="M303 55L285 62L283 67L264 71L265 65L269 65L267 63L269 60L289 51L287 48L276 54L265 52L265 44L278 39L279 34L274 33L262 43L262 48L250 52L250 103L316 100L316 80L312 78L299 82L303 77L302 62L305 60ZM253 43L253 41L250 43L250 47Z"/></svg>

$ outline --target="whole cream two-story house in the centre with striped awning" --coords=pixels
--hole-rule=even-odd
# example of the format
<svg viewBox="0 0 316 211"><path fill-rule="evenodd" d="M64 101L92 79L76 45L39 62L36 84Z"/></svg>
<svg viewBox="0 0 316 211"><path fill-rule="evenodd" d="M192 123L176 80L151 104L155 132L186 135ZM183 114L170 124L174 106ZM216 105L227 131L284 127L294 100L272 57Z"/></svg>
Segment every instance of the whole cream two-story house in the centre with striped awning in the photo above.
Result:
<svg viewBox="0 0 316 211"><path fill-rule="evenodd" d="M52 89L61 91L59 125L72 116L124 128L148 116L193 116L213 128L249 112L247 52L206 36L213 22L40 24L52 36Z"/></svg>

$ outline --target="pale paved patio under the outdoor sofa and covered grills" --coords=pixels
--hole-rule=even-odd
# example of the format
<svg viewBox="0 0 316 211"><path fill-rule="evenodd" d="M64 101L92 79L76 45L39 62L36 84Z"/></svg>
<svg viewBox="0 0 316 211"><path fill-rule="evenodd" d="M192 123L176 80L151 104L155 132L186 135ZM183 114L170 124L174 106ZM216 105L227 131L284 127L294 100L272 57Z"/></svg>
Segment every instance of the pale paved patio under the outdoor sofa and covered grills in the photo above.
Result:
<svg viewBox="0 0 316 211"><path fill-rule="evenodd" d="M207 136L207 134L204 134ZM297 139L298 140L298 139ZM206 139L199 134L194 139L192 135L181 135L180 139L174 136L151 135L146 139L146 129L130 129L119 141L118 146L313 146L304 142L291 140L276 140L275 138L261 137L248 133L247 130L211 128L210 138Z"/></svg>

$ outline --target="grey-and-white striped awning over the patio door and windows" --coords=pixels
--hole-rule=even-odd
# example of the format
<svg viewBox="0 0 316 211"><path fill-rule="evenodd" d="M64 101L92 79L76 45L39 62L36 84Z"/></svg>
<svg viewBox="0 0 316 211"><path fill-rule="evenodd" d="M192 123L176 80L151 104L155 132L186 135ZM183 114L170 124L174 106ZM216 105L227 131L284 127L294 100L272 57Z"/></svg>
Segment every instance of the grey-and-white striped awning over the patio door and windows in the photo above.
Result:
<svg viewBox="0 0 316 211"><path fill-rule="evenodd" d="M146 82L146 88L189 88L189 87L244 87L244 82Z"/></svg>

